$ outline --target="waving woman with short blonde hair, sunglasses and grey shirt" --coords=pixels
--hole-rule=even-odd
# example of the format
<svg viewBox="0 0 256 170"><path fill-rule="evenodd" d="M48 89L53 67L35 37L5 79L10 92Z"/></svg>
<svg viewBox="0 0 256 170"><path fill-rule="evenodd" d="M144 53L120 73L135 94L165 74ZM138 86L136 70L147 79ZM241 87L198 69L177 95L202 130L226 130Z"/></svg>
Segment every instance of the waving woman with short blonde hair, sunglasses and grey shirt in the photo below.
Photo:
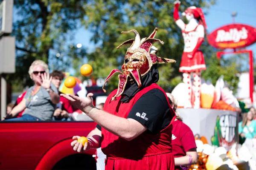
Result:
<svg viewBox="0 0 256 170"><path fill-rule="evenodd" d="M35 60L29 67L29 75L35 85L28 89L22 101L7 114L8 121L52 120L59 95L57 88L51 83L48 65L42 60ZM8 119L24 109L20 118Z"/></svg>

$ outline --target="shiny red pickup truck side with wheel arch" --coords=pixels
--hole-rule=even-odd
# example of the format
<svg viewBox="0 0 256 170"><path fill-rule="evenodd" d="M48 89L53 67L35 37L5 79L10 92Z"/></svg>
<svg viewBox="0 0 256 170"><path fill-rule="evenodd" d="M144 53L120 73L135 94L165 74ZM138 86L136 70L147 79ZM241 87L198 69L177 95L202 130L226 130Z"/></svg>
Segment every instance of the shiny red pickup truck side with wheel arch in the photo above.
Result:
<svg viewBox="0 0 256 170"><path fill-rule="evenodd" d="M72 136L87 136L95 122L0 122L0 169L96 169L96 150L77 153Z"/></svg>

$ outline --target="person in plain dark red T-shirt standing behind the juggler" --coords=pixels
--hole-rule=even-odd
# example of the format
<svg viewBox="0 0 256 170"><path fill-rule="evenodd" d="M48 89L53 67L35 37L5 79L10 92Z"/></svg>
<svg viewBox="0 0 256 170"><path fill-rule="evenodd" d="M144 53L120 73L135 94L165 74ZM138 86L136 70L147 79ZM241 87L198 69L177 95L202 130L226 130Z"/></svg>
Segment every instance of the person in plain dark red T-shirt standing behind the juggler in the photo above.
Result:
<svg viewBox="0 0 256 170"><path fill-rule="evenodd" d="M177 103L170 93L166 93L169 103L176 112ZM172 153L175 160L175 170L188 169L191 164L195 164L198 160L196 152L195 138L192 130L182 122L182 119L176 112L176 119L173 122L172 129Z"/></svg>

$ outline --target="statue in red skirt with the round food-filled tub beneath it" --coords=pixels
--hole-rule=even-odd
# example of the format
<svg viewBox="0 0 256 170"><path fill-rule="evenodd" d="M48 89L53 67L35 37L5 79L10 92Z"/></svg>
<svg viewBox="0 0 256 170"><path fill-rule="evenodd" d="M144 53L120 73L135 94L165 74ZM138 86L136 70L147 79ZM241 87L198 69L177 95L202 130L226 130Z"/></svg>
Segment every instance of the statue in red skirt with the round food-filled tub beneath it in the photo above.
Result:
<svg viewBox="0 0 256 170"><path fill-rule="evenodd" d="M188 20L185 24L178 15L179 5L180 1L175 1L174 19L182 31L184 50L179 68L183 82L172 91L177 111L194 134L205 136L208 142L218 141L228 149L238 141L238 101L232 91L224 87L223 77L215 87L201 84L201 71L206 69L204 54L199 50L207 28L204 13L195 6L187 8L182 13Z"/></svg>

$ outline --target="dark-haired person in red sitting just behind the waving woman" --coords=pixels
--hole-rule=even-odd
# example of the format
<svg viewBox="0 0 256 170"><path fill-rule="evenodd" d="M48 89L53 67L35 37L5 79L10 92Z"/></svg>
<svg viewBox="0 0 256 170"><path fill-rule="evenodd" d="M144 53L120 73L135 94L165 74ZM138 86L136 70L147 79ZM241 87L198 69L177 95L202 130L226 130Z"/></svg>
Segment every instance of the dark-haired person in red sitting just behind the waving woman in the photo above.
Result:
<svg viewBox="0 0 256 170"><path fill-rule="evenodd" d="M64 79L64 74L61 71L54 70L50 74L52 77L52 84L58 89ZM61 94L61 92L59 92ZM69 120L69 114L73 113L74 109L70 104L70 101L63 96L60 96L60 102L56 105L56 109L53 113L54 120Z"/></svg>

